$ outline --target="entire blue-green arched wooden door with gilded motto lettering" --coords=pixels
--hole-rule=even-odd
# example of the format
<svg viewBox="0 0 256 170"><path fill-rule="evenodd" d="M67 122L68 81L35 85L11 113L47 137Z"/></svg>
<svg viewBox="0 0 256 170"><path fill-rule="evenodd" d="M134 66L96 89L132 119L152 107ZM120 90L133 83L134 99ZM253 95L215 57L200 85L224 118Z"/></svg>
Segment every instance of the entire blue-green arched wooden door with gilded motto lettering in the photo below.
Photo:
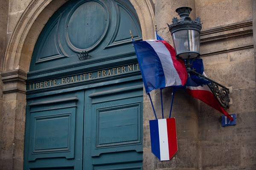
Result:
<svg viewBox="0 0 256 170"><path fill-rule="evenodd" d="M143 83L130 29L140 40L129 1L72 0L49 19L27 78L24 169L142 169Z"/></svg>

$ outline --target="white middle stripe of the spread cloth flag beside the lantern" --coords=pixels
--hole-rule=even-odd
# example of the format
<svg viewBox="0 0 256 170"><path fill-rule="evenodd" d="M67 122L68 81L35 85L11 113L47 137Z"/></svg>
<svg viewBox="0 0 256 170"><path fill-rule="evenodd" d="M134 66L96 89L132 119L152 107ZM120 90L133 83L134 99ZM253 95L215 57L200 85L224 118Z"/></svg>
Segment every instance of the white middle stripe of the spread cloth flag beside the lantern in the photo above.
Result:
<svg viewBox="0 0 256 170"><path fill-rule="evenodd" d="M160 58L161 64L163 66L163 72L165 75L166 86L180 85L180 77L173 65L171 54L166 46L161 41L154 42L147 40L147 43L149 43L153 47L154 51Z"/></svg>

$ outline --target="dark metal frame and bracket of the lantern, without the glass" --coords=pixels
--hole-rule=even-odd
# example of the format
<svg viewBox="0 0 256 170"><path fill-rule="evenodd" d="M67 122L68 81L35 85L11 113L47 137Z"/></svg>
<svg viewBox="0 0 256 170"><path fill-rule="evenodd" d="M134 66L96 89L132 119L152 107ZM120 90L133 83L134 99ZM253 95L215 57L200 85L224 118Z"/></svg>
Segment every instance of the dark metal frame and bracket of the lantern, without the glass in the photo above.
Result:
<svg viewBox="0 0 256 170"><path fill-rule="evenodd" d="M211 81L210 84L206 84L206 85L209 86L209 88L211 89L213 95L215 96L215 98L217 99L217 101L219 102L221 107L229 108L229 102L230 102L230 98L228 95L230 92L229 89L227 87L219 84L218 82L213 81L212 79L196 72L195 69L193 69L193 67L192 67L193 61L195 61L195 59L200 58L199 46L200 46L200 33L201 33L201 29L202 29L202 23L201 23L201 20L199 17L197 17L194 21L191 20L191 18L189 17L189 14L191 11L192 11L192 9L189 7L177 8L176 12L179 14L180 20L178 20L177 17L174 17L172 20L172 24L171 25L167 24L169 27L169 31L172 34L172 37L175 32L182 31L182 30L194 30L195 32L199 33L199 39L197 42L198 43L197 44L198 51L185 51L185 52L178 52L178 53L176 51L176 54L177 54L176 58L177 58L177 60L184 61L188 74L195 74L199 78L204 78L208 81ZM187 31L187 38L189 38L188 31ZM187 42L189 43L189 39L187 40ZM177 45L177 44L175 44L175 45ZM183 45L185 46L185 43ZM177 46L175 46L175 49L177 49ZM185 49L185 48L183 48L183 49ZM185 58L184 58L184 56L180 57L180 55L184 54L184 53L187 53L188 55L186 55Z"/></svg>

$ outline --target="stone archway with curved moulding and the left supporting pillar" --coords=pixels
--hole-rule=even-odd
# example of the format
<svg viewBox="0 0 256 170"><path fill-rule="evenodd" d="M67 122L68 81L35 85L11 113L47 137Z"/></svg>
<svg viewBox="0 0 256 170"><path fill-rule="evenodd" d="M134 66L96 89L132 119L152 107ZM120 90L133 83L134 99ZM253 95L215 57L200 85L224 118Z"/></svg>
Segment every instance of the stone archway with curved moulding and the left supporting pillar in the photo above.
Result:
<svg viewBox="0 0 256 170"><path fill-rule="evenodd" d="M143 39L154 38L154 10L150 1L130 0L138 14ZM31 1L21 15L7 46L1 80L3 81L3 113L1 117L1 150L3 169L23 167L26 113L26 73L36 40L49 17L67 0Z"/></svg>

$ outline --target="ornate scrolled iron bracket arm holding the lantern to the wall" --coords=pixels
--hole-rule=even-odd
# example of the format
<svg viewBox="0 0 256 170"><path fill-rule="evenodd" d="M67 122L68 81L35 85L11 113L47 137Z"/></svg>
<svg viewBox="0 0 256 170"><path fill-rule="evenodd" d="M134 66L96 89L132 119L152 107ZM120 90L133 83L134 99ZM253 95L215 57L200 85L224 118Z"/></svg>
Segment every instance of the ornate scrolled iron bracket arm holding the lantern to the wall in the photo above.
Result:
<svg viewBox="0 0 256 170"><path fill-rule="evenodd" d="M198 72L195 72L194 70L190 69L187 70L188 73L192 73L192 74L196 74L198 75L198 77L202 77L206 80L211 81L212 83L207 84L207 86L209 86L209 88L211 89L213 95L215 96L215 98L217 99L217 101L219 102L219 104L221 105L221 107L223 108L229 108L229 102L230 102L230 98L229 98L229 89L219 83L217 83L216 81L213 81L210 78L205 77L204 75L201 75ZM221 89L220 89L221 87Z"/></svg>

